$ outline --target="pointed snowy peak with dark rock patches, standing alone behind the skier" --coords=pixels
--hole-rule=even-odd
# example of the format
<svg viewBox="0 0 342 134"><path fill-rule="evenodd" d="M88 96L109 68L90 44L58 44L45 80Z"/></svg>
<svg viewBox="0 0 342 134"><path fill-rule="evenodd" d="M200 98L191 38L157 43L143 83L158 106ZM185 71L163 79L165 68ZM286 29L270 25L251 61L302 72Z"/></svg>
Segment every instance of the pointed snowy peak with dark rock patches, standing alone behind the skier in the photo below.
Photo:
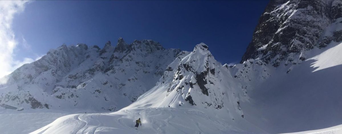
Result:
<svg viewBox="0 0 342 134"><path fill-rule="evenodd" d="M200 43L192 52L180 52L166 68L156 86L140 99L148 102L149 99L162 100L151 107L185 107L214 111L229 109L229 114L243 118L237 102L243 101L240 97L245 98L247 95L240 90L241 85L232 86L237 79L214 59L208 48L206 44Z"/></svg>

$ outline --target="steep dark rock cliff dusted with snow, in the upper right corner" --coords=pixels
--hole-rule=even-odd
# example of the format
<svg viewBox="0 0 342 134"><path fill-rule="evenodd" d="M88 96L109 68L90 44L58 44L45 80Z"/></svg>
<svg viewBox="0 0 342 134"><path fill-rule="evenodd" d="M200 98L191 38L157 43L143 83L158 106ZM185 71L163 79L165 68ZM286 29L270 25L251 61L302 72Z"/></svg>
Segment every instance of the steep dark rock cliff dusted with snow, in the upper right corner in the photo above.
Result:
<svg viewBox="0 0 342 134"><path fill-rule="evenodd" d="M260 58L274 67L300 64L308 51L342 41L342 1L270 1L241 63Z"/></svg>

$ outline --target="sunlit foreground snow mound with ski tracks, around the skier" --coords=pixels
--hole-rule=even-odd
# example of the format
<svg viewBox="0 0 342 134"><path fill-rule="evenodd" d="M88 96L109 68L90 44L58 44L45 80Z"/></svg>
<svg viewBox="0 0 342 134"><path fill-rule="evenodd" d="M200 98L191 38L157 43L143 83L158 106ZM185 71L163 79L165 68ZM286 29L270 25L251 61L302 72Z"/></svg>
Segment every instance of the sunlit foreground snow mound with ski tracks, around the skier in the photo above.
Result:
<svg viewBox="0 0 342 134"><path fill-rule="evenodd" d="M142 126L134 129L135 120ZM95 133L95 134L247 134L202 111L186 108L141 108L103 114L76 114L58 118L31 134Z"/></svg>

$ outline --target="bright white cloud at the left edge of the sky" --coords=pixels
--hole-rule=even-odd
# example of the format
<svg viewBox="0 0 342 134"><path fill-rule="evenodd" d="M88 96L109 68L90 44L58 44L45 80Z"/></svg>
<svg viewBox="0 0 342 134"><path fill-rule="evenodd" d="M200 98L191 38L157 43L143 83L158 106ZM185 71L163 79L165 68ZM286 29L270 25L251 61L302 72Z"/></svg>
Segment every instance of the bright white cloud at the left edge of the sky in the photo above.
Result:
<svg viewBox="0 0 342 134"><path fill-rule="evenodd" d="M12 30L13 17L15 14L23 12L25 5L29 2L17 0L0 1L0 78L8 75L17 67L34 61L31 58L24 58L23 61L15 61L13 58L13 50L18 45L18 41L15 40L15 34ZM23 43L24 41L26 42L23 38ZM27 42L25 45L29 47Z"/></svg>

